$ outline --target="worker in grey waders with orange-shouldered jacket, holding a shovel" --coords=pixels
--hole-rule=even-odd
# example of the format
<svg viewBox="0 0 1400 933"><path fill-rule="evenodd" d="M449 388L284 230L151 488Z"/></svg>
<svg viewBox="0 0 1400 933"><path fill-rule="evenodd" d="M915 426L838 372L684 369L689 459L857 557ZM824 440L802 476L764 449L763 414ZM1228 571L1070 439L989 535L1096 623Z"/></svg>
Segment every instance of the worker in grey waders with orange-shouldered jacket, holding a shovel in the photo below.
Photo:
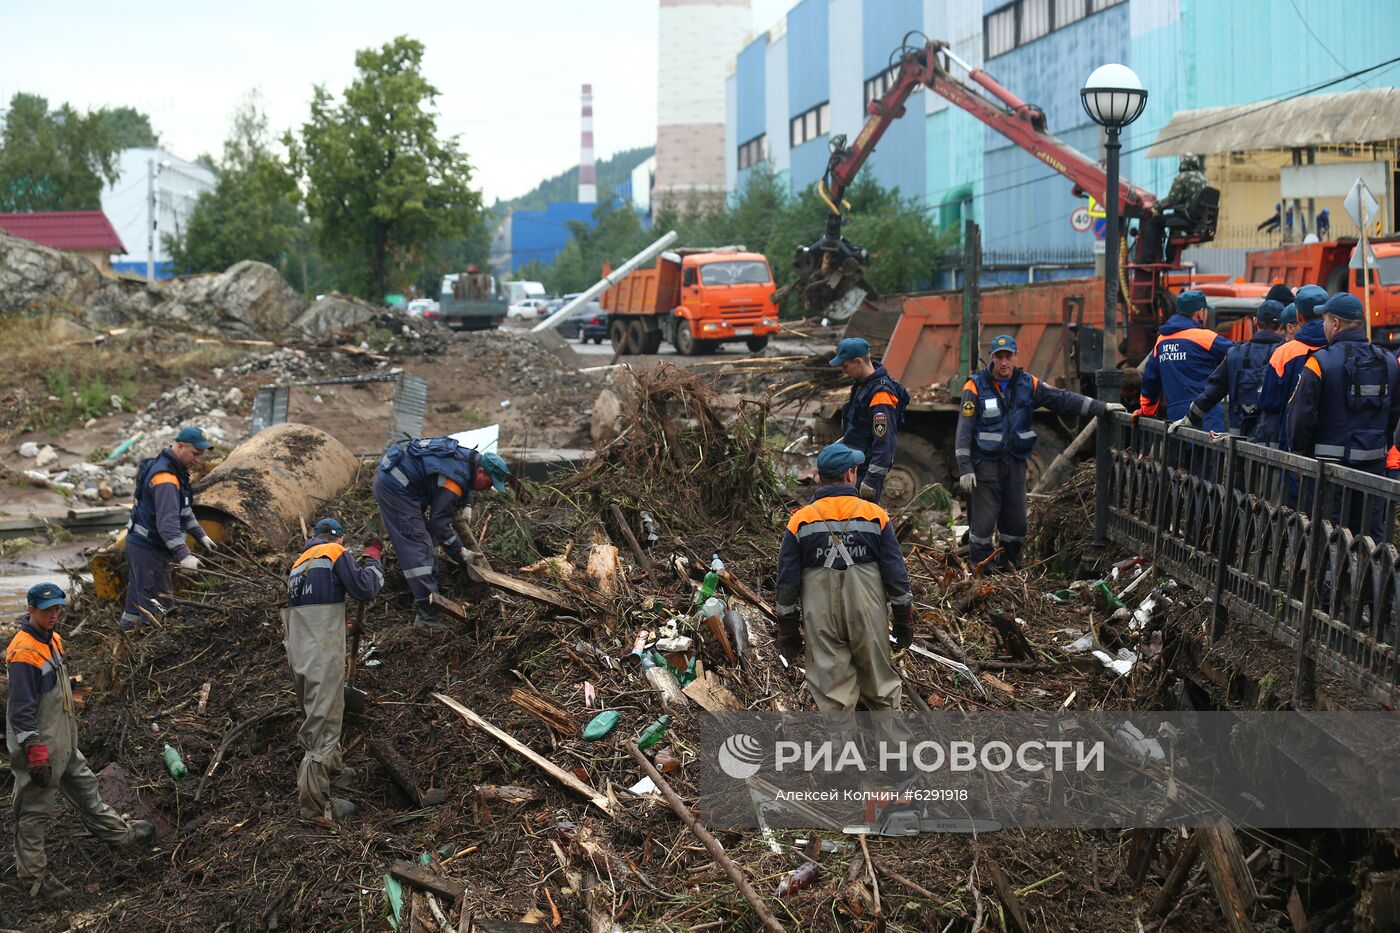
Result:
<svg viewBox="0 0 1400 933"><path fill-rule="evenodd" d="M356 811L349 800L330 796L332 782L349 785L340 759L340 726L346 712L346 597L368 601L384 588L379 556L384 542L364 545L364 566L346 551L346 531L335 518L316 523L291 565L283 625L287 663L297 702L307 719L297 731L305 749L297 768L301 815L344 820Z"/></svg>

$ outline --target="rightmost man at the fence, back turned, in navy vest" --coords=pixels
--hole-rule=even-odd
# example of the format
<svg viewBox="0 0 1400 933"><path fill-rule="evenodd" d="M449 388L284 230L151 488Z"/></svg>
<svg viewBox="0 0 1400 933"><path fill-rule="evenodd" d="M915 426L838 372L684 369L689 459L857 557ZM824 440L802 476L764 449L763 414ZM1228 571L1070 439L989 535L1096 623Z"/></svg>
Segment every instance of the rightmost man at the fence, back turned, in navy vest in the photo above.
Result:
<svg viewBox="0 0 1400 933"><path fill-rule="evenodd" d="M1400 422L1400 364L1366 340L1365 311L1355 296L1331 296L1322 305L1322 325L1327 346L1303 361L1288 403L1289 450L1383 476ZM1345 516L1341 502L1331 503L1331 518L1380 541L1383 503L1373 502L1364 518L1361 500L1351 496Z"/></svg>

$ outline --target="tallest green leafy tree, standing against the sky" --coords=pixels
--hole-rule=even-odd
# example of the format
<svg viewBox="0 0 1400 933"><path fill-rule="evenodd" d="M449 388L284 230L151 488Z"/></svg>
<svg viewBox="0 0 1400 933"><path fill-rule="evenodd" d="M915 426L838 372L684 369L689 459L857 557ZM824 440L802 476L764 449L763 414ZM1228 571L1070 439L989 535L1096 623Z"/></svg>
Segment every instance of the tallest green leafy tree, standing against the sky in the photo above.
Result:
<svg viewBox="0 0 1400 933"><path fill-rule="evenodd" d="M381 300L420 273L427 244L472 234L482 196L456 137L438 137L423 43L399 36L363 49L356 67L343 101L315 88L301 137L286 141L318 247L357 261L363 272L346 284Z"/></svg>

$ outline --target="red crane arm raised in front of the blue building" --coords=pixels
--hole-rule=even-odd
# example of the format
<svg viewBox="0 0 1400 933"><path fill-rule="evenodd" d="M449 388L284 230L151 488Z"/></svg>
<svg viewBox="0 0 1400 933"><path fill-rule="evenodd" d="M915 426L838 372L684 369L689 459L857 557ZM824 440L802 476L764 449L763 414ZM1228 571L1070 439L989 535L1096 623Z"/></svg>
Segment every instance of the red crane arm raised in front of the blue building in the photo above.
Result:
<svg viewBox="0 0 1400 933"><path fill-rule="evenodd" d="M990 101L973 88L953 77L939 55L967 70L967 76L990 92ZM1044 112L998 84L990 74L967 66L958 59L946 42L930 41L921 49L906 52L900 62L899 77L879 99L865 105L869 118L850 148L839 146L827 164L826 184L833 202L840 203L841 193L855 178L861 165L875 151L876 143L889 125L904 115L904 102L920 87L927 87L979 120L997 130L1012 143L1026 150L1050 168L1056 170L1075 188L1088 192L1098 202L1107 203L1107 177L1103 168L1072 146L1056 139L1046 129ZM1156 196L1123 179L1119 182L1119 213L1123 217L1142 217L1156 203Z"/></svg>

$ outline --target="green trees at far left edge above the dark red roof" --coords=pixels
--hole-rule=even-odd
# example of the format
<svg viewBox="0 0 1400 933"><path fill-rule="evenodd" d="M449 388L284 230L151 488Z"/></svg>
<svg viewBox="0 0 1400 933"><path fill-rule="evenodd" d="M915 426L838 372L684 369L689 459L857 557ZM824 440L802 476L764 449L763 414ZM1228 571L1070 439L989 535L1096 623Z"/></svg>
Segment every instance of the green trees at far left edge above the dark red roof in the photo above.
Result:
<svg viewBox="0 0 1400 933"><path fill-rule="evenodd" d="M120 144L106 111L56 111L15 94L0 134L0 210L97 210L118 179Z"/></svg>

